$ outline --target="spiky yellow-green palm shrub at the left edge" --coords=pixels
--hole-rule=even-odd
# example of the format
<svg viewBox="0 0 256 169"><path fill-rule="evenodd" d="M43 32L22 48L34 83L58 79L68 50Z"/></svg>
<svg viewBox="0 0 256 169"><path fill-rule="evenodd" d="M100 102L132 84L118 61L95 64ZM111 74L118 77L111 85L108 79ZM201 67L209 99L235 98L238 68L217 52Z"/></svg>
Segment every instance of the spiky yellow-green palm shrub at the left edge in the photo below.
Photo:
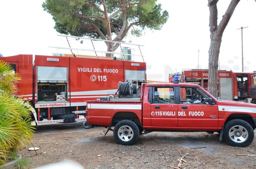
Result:
<svg viewBox="0 0 256 169"><path fill-rule="evenodd" d="M31 126L33 107L14 95L19 79L10 64L0 61L0 166L8 160L10 152L27 146L34 135Z"/></svg>

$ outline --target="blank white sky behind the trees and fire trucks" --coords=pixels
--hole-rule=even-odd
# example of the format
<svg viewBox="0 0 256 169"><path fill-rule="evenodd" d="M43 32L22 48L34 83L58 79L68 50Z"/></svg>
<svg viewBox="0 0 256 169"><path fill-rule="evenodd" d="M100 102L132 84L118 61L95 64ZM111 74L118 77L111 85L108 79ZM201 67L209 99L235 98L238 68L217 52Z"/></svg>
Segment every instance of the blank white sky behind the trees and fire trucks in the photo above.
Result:
<svg viewBox="0 0 256 169"><path fill-rule="evenodd" d="M68 53L55 47L69 47L67 40L54 29L52 16L43 10L44 0L1 0L0 1L0 53L4 56L16 54L52 55ZM219 0L218 22L225 13L230 0ZM149 30L141 37L127 35L126 41L144 45L141 47L147 63L147 79L168 81L169 73L183 69L208 68L210 46L208 0L158 0L169 12L169 19L161 30ZM222 36L219 54L219 69L242 71L256 70L256 2L240 0ZM241 40L241 27L243 40ZM89 40L69 39L72 48L88 48ZM101 50L104 43L94 43ZM98 49L99 47L100 49ZM135 54L138 46L132 45ZM73 50L76 54L88 54ZM141 56L135 60L142 61Z"/></svg>

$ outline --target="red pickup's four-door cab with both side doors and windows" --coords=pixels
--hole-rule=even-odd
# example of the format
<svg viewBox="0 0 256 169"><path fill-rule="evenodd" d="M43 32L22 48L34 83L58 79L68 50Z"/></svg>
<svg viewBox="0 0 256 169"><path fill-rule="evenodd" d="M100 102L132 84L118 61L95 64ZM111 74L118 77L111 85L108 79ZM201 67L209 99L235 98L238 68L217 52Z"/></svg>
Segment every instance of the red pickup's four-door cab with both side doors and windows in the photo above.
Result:
<svg viewBox="0 0 256 169"><path fill-rule="evenodd" d="M143 107L150 107L150 118L144 118L144 128L221 129L218 128L219 114L215 99L199 85L163 83L151 84L148 88L149 100L143 102Z"/></svg>

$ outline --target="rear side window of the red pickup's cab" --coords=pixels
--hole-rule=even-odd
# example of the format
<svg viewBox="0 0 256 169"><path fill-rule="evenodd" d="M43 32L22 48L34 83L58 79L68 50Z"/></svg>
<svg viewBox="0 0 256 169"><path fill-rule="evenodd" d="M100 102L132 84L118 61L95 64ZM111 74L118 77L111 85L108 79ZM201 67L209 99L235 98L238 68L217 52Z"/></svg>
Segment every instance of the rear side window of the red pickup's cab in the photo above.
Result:
<svg viewBox="0 0 256 169"><path fill-rule="evenodd" d="M173 87L154 87L154 103L175 103Z"/></svg>

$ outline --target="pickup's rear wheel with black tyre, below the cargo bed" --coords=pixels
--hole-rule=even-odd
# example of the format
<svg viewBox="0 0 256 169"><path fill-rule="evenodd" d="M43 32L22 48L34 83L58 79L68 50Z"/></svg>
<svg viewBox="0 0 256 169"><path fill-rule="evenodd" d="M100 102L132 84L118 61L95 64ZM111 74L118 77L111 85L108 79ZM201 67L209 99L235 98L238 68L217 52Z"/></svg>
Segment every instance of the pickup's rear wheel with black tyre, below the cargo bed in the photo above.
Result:
<svg viewBox="0 0 256 169"><path fill-rule="evenodd" d="M114 127L114 138L119 144L133 145L139 138L138 125L131 120L121 120Z"/></svg>

